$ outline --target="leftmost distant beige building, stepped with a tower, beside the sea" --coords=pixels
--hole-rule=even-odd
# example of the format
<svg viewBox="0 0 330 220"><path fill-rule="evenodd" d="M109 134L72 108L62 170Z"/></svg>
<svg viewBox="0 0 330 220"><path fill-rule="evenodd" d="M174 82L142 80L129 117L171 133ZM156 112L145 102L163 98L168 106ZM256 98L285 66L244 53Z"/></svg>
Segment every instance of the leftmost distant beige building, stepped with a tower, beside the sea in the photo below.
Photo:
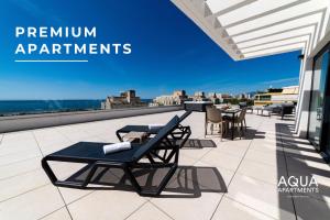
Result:
<svg viewBox="0 0 330 220"><path fill-rule="evenodd" d="M119 97L107 97L107 99L101 102L101 109L123 109L146 106L146 102L141 101L140 97L135 96L135 90L121 92Z"/></svg>

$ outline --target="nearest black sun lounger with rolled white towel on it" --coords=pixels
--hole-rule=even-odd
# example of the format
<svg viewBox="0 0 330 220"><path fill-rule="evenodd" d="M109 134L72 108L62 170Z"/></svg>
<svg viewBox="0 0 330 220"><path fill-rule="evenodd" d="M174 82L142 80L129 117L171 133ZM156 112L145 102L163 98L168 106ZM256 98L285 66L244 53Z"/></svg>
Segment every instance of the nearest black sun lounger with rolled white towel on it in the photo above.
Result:
<svg viewBox="0 0 330 220"><path fill-rule="evenodd" d="M42 166L53 185L79 189L87 188L87 185L91 182L99 167L110 169L120 168L124 172L125 178L131 182L139 195L157 196L162 193L177 168L179 146L173 142L172 132L176 130L178 125L179 118L176 116L162 128L154 138L150 139L148 142L144 144L132 144L131 150L107 155L103 153L103 145L109 143L79 142L45 156L42 160ZM166 160L156 161L161 154L160 146L165 151L164 156ZM88 164L89 173L84 182L58 180L48 165L48 162L52 161ZM151 168L166 168L168 172L162 178L157 187L153 189L142 189L133 174L133 169L135 168L145 170Z"/></svg>

